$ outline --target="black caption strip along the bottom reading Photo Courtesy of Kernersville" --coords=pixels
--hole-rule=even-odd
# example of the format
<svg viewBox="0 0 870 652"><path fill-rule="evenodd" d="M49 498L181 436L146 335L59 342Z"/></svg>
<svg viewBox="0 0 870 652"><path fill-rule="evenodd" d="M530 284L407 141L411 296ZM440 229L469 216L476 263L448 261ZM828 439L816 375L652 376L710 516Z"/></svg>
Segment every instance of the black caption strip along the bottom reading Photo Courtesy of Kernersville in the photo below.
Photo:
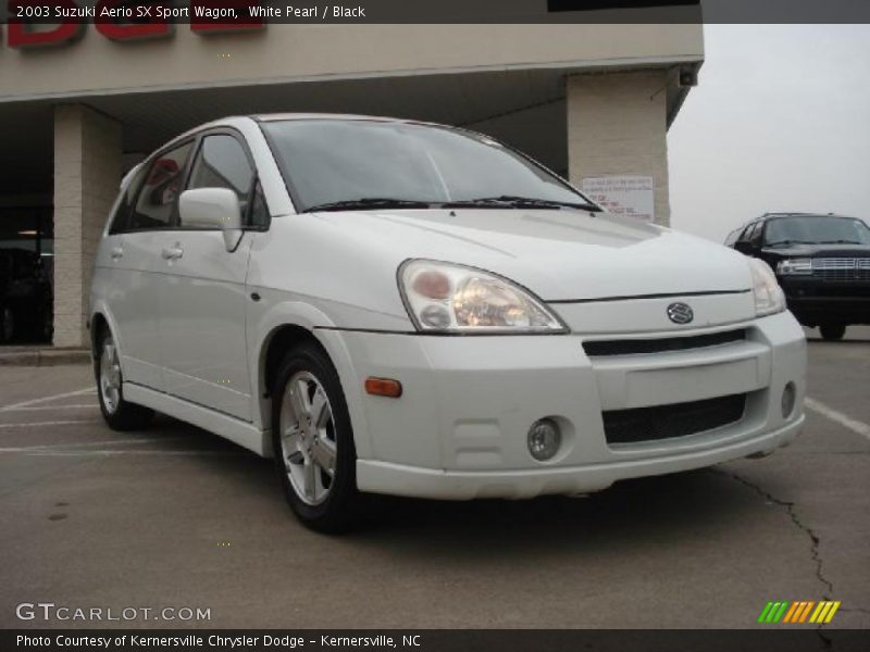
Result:
<svg viewBox="0 0 870 652"><path fill-rule="evenodd" d="M753 630L0 630L0 650L134 652L867 652L870 630L759 626Z"/></svg>

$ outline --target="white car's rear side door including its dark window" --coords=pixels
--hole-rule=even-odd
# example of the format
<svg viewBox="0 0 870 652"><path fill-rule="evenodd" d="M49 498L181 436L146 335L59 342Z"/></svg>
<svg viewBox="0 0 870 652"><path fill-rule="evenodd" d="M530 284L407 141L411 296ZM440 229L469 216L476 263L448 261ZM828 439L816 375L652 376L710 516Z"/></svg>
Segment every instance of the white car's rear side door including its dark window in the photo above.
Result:
<svg viewBox="0 0 870 652"><path fill-rule="evenodd" d="M163 390L158 339L159 262L173 228L178 193L192 141L147 162L121 197L97 255L102 267L95 296L103 297L115 323L125 381Z"/></svg>

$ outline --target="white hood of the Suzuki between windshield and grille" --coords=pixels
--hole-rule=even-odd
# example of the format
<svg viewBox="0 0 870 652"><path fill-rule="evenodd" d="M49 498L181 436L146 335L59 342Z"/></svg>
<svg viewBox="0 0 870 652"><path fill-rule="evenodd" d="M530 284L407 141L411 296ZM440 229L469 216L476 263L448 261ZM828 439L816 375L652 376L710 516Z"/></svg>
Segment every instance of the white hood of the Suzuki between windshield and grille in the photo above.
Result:
<svg viewBox="0 0 870 652"><path fill-rule="evenodd" d="M432 259L495 272L545 301L739 291L745 256L713 242L602 213L406 210L315 214L334 236L378 250L395 269Z"/></svg>

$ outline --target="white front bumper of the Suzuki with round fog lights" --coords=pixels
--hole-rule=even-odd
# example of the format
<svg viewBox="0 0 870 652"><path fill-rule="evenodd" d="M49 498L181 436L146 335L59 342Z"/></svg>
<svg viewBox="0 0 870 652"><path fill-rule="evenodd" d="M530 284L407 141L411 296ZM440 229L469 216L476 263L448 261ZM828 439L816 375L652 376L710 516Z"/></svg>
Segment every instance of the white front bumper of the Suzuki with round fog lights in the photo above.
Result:
<svg viewBox="0 0 870 652"><path fill-rule="evenodd" d="M433 337L343 333L356 378L396 378L400 399L359 394L355 415L361 490L438 499L585 493L631 477L768 453L803 425L806 341L788 313L679 335L745 328L745 341L655 354L589 358L584 338ZM643 334L645 338L674 333ZM624 337L624 336L620 336ZM797 408L781 412L786 384ZM742 393L743 417L688 436L608 443L602 412ZM531 425L562 427L548 462L527 450ZM364 441L360 441L363 438Z"/></svg>

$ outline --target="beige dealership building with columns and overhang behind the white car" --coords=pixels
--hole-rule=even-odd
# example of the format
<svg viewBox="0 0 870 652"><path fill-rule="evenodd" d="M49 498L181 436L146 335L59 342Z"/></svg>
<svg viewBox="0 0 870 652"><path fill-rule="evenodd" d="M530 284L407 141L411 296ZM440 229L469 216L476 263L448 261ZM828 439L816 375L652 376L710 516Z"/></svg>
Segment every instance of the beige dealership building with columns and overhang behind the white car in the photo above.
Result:
<svg viewBox="0 0 870 652"><path fill-rule="evenodd" d="M461 125L577 186L650 179L648 216L668 224L667 129L704 59L698 24L179 24L150 38L87 25L23 42L50 29L16 40L2 26L0 248L53 269L55 347L87 341L123 173L200 123L304 111Z"/></svg>

